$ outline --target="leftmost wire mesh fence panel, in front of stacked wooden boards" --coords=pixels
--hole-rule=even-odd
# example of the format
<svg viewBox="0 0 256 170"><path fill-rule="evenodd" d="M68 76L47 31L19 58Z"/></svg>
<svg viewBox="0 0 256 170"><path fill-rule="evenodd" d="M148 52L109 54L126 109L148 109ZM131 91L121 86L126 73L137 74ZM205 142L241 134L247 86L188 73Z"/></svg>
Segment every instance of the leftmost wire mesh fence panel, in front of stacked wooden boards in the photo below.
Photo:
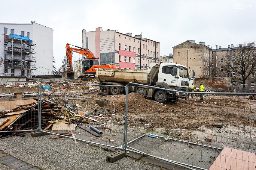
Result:
<svg viewBox="0 0 256 170"><path fill-rule="evenodd" d="M36 81L1 81L0 136L21 135L38 130L38 94Z"/></svg>

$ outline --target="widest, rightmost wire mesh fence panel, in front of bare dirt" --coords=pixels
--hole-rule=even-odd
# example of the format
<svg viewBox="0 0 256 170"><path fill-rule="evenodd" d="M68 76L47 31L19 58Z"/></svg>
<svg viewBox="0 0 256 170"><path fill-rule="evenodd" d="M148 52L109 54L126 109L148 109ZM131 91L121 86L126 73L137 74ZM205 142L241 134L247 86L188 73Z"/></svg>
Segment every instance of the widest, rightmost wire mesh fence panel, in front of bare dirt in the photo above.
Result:
<svg viewBox="0 0 256 170"><path fill-rule="evenodd" d="M126 149L189 169L209 169L225 147L256 153L256 104L247 97L255 93L186 93L195 96L175 104L130 93Z"/></svg>

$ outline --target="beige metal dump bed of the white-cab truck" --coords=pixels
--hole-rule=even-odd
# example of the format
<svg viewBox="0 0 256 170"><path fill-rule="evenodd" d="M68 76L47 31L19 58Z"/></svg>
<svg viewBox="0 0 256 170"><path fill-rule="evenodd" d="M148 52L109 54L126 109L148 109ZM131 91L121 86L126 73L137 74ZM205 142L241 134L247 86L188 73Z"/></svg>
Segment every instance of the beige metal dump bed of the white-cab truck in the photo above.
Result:
<svg viewBox="0 0 256 170"><path fill-rule="evenodd" d="M123 82L123 83L139 83L147 84L147 70L128 70L128 69L102 69L99 68L96 72L97 81Z"/></svg>

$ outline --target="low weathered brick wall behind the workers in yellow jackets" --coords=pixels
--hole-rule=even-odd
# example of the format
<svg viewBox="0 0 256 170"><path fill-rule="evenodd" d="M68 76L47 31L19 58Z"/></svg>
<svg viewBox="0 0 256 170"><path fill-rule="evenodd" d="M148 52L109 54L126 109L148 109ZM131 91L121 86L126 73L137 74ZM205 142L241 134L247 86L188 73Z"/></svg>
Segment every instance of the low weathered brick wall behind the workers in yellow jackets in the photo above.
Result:
<svg viewBox="0 0 256 170"><path fill-rule="evenodd" d="M195 78L194 87L199 88L200 83L203 83L204 89L214 92L232 92L233 85L231 78Z"/></svg>

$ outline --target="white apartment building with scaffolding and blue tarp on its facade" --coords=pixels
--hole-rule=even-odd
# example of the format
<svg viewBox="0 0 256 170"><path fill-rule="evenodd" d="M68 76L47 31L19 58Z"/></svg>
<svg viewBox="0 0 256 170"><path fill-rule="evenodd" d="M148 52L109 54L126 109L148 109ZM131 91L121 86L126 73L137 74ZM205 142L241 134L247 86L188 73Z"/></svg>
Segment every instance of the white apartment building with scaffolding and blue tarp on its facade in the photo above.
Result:
<svg viewBox="0 0 256 170"><path fill-rule="evenodd" d="M53 29L35 23L0 23L0 75L52 75Z"/></svg>

